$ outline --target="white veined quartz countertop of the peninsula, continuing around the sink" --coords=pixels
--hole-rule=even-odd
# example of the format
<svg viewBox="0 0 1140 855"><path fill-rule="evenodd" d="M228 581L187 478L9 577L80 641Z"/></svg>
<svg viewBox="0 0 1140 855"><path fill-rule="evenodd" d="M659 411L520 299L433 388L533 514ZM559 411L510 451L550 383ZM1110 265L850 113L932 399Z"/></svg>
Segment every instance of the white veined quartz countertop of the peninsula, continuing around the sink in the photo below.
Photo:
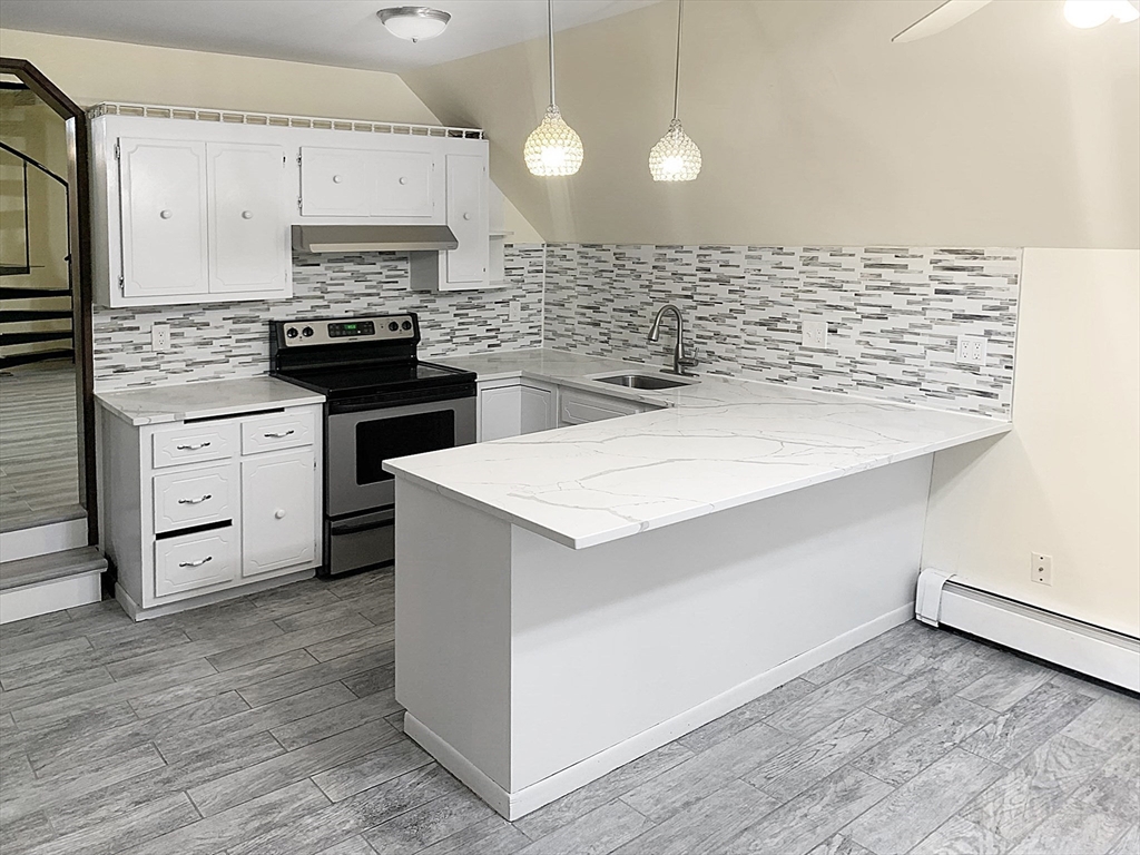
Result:
<svg viewBox="0 0 1140 855"><path fill-rule="evenodd" d="M980 416L708 375L681 389L633 391L588 377L658 367L552 350L440 361L474 370L481 382L531 377L666 407L384 464L414 483L573 548L1012 427Z"/></svg>

